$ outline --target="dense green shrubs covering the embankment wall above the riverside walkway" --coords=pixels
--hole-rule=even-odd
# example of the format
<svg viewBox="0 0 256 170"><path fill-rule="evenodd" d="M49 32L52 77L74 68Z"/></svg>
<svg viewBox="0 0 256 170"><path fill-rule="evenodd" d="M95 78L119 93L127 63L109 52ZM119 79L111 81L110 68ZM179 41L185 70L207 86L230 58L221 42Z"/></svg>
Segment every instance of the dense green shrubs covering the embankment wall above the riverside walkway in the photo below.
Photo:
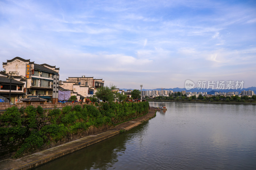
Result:
<svg viewBox="0 0 256 170"><path fill-rule="evenodd" d="M86 134L84 132L92 127L129 121L148 113L148 107L148 102L110 102L100 103L98 107L75 105L52 110L43 110L40 106L8 108L0 115L0 159L6 155L17 158L49 145L68 142L66 139L75 139L81 132Z"/></svg>

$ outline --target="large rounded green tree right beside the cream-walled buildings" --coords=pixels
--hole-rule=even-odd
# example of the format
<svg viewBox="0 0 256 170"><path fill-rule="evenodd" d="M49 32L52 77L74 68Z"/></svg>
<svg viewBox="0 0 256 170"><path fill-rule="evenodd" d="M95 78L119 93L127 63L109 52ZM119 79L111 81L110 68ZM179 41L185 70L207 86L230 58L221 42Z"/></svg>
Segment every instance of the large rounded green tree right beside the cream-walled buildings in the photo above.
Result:
<svg viewBox="0 0 256 170"><path fill-rule="evenodd" d="M115 89L115 86L103 86L97 89L97 92L95 95L97 96L98 99L106 102L112 102L114 100L114 94L112 90Z"/></svg>

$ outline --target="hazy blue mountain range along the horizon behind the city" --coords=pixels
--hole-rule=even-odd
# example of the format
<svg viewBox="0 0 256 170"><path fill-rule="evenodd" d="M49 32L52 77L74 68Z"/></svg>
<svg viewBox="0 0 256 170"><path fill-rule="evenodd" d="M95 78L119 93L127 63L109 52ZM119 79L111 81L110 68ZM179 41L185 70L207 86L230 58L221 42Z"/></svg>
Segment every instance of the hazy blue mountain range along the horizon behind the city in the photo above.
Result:
<svg viewBox="0 0 256 170"><path fill-rule="evenodd" d="M120 89L120 90L134 90L134 89ZM140 90L140 89L139 89ZM142 91L147 91L147 90L162 90L161 88L158 89L142 89ZM169 89L163 89L163 90L172 90L173 92L181 92L181 91L186 91L186 92L207 92L207 94L214 94L214 92L239 92L241 93L242 91L248 91L248 90L252 90L254 91L254 93L256 93L256 87L248 87L248 88L243 88L243 89L197 89L197 88L193 88L190 90L186 90L185 88L169 88Z"/></svg>

